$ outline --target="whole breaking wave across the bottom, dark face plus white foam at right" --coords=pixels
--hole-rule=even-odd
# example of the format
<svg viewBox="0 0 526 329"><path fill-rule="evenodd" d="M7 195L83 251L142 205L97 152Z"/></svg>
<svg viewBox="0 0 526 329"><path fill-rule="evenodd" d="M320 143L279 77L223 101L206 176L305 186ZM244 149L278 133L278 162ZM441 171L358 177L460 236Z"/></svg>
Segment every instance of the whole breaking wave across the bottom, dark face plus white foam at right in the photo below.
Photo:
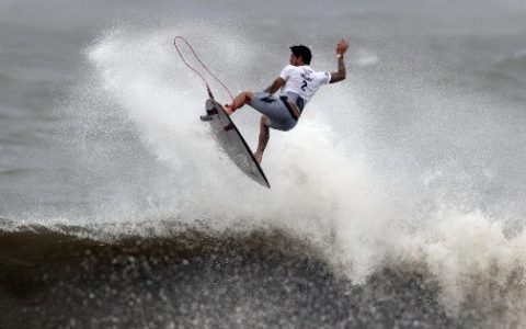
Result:
<svg viewBox="0 0 526 329"><path fill-rule="evenodd" d="M0 304L32 315L3 316L22 327L524 322L524 236L508 240L474 215L437 225L442 236L401 237L403 248L362 283L312 241L279 229L214 234L171 219L155 230L127 224L135 228L123 234L115 225L3 222Z"/></svg>

